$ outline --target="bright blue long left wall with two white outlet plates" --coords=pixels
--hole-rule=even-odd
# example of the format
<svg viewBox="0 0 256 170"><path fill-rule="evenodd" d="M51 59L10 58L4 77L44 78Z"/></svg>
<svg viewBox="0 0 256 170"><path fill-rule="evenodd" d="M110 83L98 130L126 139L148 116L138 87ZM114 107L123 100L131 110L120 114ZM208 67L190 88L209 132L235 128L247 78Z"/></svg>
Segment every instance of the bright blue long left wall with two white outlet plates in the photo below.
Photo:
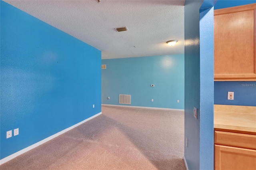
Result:
<svg viewBox="0 0 256 170"><path fill-rule="evenodd" d="M101 51L0 3L2 159L101 112Z"/></svg>

